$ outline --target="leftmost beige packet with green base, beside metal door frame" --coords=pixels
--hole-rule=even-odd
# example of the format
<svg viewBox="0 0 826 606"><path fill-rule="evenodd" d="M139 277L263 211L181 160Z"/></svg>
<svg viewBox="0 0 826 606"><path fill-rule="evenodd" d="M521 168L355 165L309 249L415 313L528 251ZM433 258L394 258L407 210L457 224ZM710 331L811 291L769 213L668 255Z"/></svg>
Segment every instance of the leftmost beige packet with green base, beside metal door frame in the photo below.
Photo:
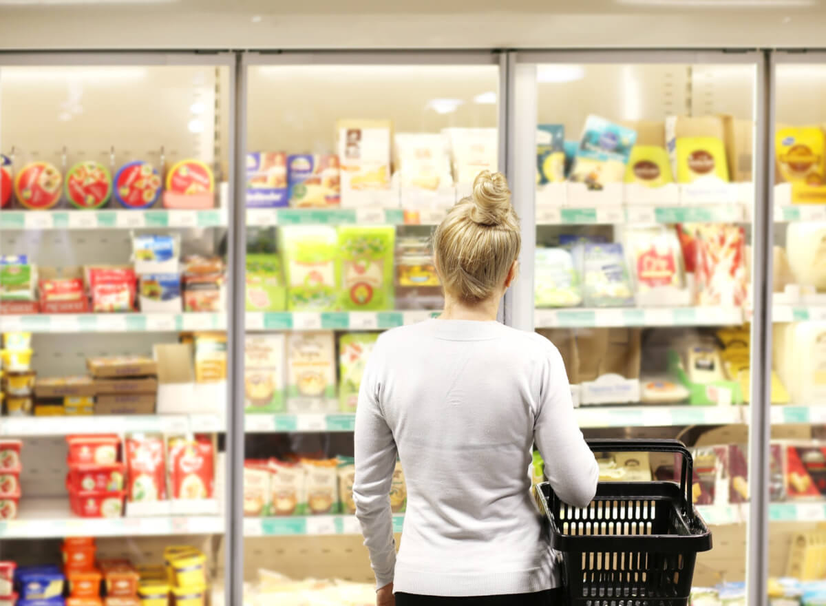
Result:
<svg viewBox="0 0 826 606"><path fill-rule="evenodd" d="M285 336L247 335L244 341L244 394L248 413L284 412Z"/></svg>

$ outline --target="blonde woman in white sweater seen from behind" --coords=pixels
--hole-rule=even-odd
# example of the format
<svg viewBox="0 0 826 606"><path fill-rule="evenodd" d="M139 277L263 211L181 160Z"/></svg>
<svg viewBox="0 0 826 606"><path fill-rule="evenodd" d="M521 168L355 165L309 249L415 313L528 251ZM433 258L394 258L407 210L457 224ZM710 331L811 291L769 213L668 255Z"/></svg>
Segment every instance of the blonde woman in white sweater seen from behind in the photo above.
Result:
<svg viewBox="0 0 826 606"><path fill-rule="evenodd" d="M551 604L558 580L529 492L532 446L572 505L591 502L598 468L556 347L496 322L521 244L505 177L479 174L433 244L444 313L383 333L358 397L353 494L377 604ZM396 456L408 495L397 559Z"/></svg>

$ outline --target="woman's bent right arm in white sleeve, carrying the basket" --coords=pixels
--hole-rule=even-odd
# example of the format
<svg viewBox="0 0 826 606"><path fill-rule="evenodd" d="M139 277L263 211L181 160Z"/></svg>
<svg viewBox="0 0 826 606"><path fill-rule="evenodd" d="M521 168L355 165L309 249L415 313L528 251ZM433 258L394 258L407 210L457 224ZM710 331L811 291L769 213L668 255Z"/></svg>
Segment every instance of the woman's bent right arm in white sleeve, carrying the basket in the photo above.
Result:
<svg viewBox="0 0 826 606"><path fill-rule="evenodd" d="M551 349L544 360L534 441L553 492L565 503L585 507L596 494L600 468L577 425L563 357L556 347Z"/></svg>

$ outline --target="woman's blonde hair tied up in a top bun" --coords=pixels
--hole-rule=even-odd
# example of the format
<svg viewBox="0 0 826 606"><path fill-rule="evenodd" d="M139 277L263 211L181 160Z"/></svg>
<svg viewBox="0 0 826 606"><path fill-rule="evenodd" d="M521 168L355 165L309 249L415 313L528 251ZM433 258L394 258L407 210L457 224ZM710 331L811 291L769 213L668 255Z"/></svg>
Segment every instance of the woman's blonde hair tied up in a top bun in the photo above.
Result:
<svg viewBox="0 0 826 606"><path fill-rule="evenodd" d="M505 282L521 246L508 181L487 170L477 174L472 195L456 203L433 234L442 285L464 303L489 298Z"/></svg>

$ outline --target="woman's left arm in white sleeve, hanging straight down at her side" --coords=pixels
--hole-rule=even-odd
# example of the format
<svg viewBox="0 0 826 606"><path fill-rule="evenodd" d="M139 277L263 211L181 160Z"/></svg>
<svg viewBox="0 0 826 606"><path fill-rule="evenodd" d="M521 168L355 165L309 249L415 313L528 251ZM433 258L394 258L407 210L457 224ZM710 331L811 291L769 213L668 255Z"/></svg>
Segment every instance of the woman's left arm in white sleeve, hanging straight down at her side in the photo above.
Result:
<svg viewBox="0 0 826 606"><path fill-rule="evenodd" d="M361 522L364 545L370 551L370 564L376 586L392 583L396 567L396 540L390 509L390 486L396 467L396 442L379 404L381 384L378 344L364 369L358 393L355 427L355 465L353 500Z"/></svg>

